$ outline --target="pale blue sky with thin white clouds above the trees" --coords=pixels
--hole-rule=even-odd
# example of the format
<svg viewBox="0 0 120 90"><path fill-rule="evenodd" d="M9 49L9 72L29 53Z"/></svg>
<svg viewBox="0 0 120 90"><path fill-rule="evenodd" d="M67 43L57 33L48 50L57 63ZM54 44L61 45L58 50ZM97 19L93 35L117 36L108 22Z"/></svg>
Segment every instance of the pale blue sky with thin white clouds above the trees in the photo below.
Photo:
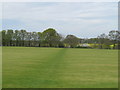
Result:
<svg viewBox="0 0 120 90"><path fill-rule="evenodd" d="M2 13L3 29L54 28L63 35L91 38L118 28L117 2L6 2Z"/></svg>

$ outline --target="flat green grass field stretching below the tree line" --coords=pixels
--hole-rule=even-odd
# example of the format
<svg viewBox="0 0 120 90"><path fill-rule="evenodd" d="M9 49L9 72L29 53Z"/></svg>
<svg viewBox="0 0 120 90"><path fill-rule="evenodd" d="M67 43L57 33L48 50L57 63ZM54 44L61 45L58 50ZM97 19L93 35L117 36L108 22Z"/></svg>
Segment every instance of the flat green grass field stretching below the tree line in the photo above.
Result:
<svg viewBox="0 0 120 90"><path fill-rule="evenodd" d="M117 50L3 47L3 88L117 87Z"/></svg>

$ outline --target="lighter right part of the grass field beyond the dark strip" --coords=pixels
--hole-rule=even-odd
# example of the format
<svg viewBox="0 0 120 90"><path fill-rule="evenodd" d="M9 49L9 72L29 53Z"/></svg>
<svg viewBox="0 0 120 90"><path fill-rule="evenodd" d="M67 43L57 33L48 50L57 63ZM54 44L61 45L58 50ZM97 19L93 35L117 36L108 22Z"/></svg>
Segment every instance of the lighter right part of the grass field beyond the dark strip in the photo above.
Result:
<svg viewBox="0 0 120 90"><path fill-rule="evenodd" d="M75 51L75 52L74 52ZM118 87L118 52L115 50L68 49L63 87Z"/></svg>

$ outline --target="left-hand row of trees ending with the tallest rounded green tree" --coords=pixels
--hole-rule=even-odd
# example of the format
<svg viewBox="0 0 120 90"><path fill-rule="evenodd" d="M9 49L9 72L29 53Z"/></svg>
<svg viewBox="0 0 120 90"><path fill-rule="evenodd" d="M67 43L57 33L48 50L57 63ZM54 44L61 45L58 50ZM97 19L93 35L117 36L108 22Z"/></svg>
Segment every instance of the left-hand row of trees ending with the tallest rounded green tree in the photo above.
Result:
<svg viewBox="0 0 120 90"><path fill-rule="evenodd" d="M2 46L63 47L62 35L53 28L43 32L2 30Z"/></svg>

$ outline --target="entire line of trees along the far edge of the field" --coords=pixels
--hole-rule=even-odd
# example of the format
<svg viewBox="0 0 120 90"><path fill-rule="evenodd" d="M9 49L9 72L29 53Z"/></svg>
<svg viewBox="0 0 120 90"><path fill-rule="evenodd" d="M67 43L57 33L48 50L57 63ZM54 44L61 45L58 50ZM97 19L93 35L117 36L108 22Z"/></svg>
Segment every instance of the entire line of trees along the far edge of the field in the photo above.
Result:
<svg viewBox="0 0 120 90"><path fill-rule="evenodd" d="M96 38L78 38L75 35L66 37L55 29L48 28L43 32L27 32L26 30L2 30L1 46L24 47L67 47L67 48L119 48L120 31L112 30L108 35L101 34ZM87 44L87 45L84 45Z"/></svg>

